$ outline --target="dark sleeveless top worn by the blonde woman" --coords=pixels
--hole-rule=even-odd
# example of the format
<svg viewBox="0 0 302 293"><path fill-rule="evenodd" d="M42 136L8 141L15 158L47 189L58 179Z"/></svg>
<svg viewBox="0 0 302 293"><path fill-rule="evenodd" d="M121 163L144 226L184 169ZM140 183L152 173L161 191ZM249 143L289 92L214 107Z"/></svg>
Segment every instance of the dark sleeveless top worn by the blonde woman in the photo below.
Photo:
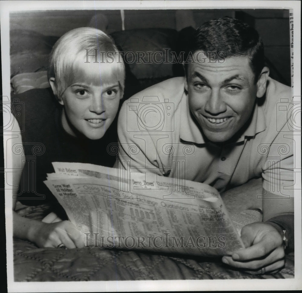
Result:
<svg viewBox="0 0 302 293"><path fill-rule="evenodd" d="M24 167L17 197L21 203L38 205L56 202L43 183L47 173L54 172L52 162L114 165L116 155L110 155L107 147L117 143L117 117L101 139L76 138L63 129L63 107L51 88L28 90L12 96L11 101L24 147Z"/></svg>

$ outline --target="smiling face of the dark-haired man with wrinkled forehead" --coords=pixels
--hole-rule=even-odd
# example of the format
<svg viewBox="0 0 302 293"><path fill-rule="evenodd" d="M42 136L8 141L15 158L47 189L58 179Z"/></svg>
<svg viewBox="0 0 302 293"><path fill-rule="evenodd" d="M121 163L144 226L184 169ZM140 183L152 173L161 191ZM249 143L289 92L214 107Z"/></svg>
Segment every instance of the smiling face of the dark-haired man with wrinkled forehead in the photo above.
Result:
<svg viewBox="0 0 302 293"><path fill-rule="evenodd" d="M191 113L212 142L229 140L245 125L257 96L247 56L228 57L223 63L207 58L189 64L185 88Z"/></svg>

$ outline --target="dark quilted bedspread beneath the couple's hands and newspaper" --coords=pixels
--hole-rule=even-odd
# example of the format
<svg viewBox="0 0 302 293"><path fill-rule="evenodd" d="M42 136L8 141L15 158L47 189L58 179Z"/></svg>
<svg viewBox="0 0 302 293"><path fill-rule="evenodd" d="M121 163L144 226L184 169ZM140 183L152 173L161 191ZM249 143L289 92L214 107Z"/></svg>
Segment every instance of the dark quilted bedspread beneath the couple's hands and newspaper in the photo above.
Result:
<svg viewBox="0 0 302 293"><path fill-rule="evenodd" d="M46 208L19 205L17 212L42 219ZM294 278L294 255L274 275L249 275L224 265L220 258L158 254L121 249L37 248L14 239L14 281L115 281Z"/></svg>

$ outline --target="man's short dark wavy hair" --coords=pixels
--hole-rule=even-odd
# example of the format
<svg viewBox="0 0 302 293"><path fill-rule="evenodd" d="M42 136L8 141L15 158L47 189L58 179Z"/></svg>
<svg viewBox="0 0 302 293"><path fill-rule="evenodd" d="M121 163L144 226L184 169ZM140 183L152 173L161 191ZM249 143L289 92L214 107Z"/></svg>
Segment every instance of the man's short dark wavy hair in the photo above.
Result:
<svg viewBox="0 0 302 293"><path fill-rule="evenodd" d="M188 51L215 52L218 59L223 52L224 57L248 56L250 66L255 74L255 83L258 81L262 68L264 67L264 49L258 32L249 25L231 17L223 17L205 22L191 35L188 43ZM188 63L185 63L187 73Z"/></svg>

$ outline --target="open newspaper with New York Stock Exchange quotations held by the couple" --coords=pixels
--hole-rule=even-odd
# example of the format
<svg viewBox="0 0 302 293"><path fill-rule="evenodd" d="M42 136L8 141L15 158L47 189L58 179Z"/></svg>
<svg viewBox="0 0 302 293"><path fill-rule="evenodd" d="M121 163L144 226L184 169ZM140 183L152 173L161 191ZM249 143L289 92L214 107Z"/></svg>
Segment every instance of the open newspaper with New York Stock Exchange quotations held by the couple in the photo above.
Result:
<svg viewBox="0 0 302 293"><path fill-rule="evenodd" d="M53 163L44 183L83 233L85 247L143 249L199 256L244 248L218 191L153 173Z"/></svg>

